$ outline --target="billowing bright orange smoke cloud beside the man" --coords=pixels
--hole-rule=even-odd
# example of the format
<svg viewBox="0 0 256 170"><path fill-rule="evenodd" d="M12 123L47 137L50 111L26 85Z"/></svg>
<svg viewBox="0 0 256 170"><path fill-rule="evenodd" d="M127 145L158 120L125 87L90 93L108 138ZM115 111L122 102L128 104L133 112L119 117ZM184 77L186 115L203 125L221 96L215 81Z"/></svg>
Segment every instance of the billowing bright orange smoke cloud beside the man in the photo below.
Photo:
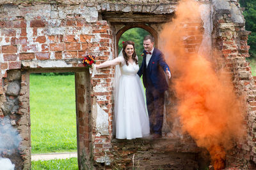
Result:
<svg viewBox="0 0 256 170"><path fill-rule="evenodd" d="M160 46L168 55L182 131L209 150L214 169L223 169L225 151L243 134L243 104L230 73L214 65L214 60L224 65L220 57L209 56L211 46L201 45L205 31L201 9L198 2L180 2L175 18L161 32ZM202 47L208 50L202 52Z"/></svg>

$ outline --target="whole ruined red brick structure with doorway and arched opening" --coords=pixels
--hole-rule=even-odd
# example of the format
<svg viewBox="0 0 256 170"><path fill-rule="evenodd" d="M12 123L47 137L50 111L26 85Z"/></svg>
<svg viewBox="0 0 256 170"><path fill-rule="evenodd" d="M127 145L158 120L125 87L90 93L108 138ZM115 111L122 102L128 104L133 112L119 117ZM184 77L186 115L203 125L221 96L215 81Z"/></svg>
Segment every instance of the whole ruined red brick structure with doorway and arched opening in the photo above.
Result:
<svg viewBox="0 0 256 170"><path fill-rule="evenodd" d="M16 169L31 167L29 74L72 71L76 73L79 169L200 169L209 165L209 157L202 156L189 136L154 141L114 139L111 83L115 70L110 67L92 77L80 62L86 54L97 56L98 63L115 58L118 39L132 27L150 32L157 46L159 32L166 22L172 22L178 2L1 1L0 116L10 119L21 138L14 152L1 156L9 157ZM212 46L230 67L237 94L246 97L248 134L227 155L226 166L253 169L256 87L245 60L250 32L244 29L236 0L200 3L212 8ZM193 48L196 45L188 42L188 51Z"/></svg>

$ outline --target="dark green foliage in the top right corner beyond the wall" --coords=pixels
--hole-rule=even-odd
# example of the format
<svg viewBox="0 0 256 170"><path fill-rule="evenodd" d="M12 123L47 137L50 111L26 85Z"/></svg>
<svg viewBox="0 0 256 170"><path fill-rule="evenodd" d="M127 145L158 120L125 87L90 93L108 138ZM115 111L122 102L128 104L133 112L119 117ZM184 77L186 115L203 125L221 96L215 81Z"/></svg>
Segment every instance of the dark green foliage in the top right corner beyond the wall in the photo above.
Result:
<svg viewBox="0 0 256 170"><path fill-rule="evenodd" d="M256 0L240 0L239 3L245 8L243 12L246 20L245 28L248 31L252 31L248 38L248 45L250 45L249 53L253 59L256 59Z"/></svg>

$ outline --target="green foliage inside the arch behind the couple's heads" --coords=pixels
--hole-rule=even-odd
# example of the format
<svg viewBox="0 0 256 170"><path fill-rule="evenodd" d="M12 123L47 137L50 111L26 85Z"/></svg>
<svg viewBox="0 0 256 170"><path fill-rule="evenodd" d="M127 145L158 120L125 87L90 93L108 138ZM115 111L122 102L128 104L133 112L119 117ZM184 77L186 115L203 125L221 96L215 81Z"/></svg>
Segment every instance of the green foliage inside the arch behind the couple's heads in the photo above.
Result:
<svg viewBox="0 0 256 170"><path fill-rule="evenodd" d="M141 56L141 53L143 52L143 39L145 36L150 34L148 31L145 31L145 29L141 28L132 28L124 32L122 36L119 39L118 42L118 53L122 50L123 41L133 41L135 43L135 52L136 55L138 55L139 58L139 65L141 65L143 57Z"/></svg>

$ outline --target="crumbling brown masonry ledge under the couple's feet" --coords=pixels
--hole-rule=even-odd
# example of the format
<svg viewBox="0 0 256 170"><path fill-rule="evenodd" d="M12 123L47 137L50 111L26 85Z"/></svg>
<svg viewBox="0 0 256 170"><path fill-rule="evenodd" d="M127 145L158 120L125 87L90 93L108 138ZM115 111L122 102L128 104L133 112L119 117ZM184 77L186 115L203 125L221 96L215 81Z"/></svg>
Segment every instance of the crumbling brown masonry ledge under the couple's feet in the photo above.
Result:
<svg viewBox="0 0 256 170"><path fill-rule="evenodd" d="M112 169L196 169L202 151L189 137L112 139L111 143Z"/></svg>

